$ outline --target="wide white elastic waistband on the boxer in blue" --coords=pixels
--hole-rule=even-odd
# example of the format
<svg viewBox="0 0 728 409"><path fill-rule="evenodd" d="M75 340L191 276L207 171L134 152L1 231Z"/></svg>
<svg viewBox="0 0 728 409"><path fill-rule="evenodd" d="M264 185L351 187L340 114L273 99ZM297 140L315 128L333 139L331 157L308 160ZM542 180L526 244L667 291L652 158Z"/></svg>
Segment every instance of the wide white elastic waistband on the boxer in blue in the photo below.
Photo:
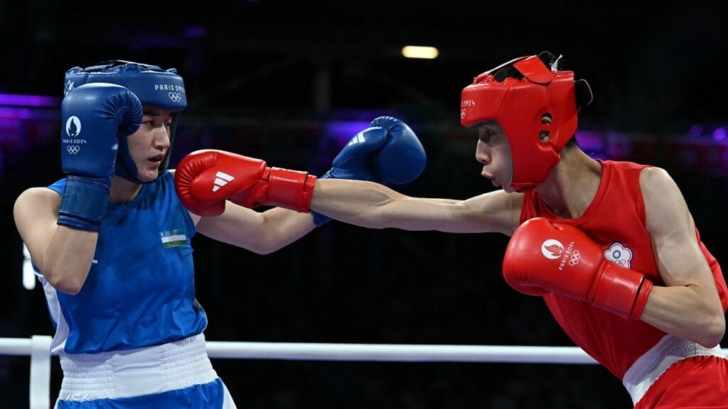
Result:
<svg viewBox="0 0 728 409"><path fill-rule="evenodd" d="M61 400L119 399L208 384L218 378L199 334L168 344L100 354L60 354Z"/></svg>

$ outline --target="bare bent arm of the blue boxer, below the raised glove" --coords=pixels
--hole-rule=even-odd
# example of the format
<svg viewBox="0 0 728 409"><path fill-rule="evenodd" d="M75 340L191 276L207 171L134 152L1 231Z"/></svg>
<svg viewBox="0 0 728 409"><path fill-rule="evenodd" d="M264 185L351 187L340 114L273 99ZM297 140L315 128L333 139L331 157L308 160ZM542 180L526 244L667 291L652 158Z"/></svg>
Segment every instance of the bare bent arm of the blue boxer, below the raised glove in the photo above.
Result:
<svg viewBox="0 0 728 409"><path fill-rule="evenodd" d="M91 269L98 233L58 225L59 206L55 191L30 188L15 201L15 226L50 285L76 294Z"/></svg>

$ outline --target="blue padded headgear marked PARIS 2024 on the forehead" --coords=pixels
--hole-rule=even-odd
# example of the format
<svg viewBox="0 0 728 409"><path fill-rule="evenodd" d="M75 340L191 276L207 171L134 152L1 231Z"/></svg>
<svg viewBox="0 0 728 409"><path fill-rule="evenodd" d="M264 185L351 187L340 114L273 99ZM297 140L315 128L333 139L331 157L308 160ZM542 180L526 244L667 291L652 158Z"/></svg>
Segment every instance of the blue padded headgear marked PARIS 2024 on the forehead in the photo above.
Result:
<svg viewBox="0 0 728 409"><path fill-rule="evenodd" d="M134 92L143 106L156 106L176 111L172 116L172 126L170 127L170 148L167 149L165 159L159 165L159 174L161 175L167 170L179 113L187 108L184 82L182 77L177 74L177 70L174 68L163 70L157 65L115 60L88 68L71 68L66 71L65 82L64 95L68 95L68 92L83 84L105 82L127 87ZM119 153L116 156L114 173L134 183L143 183L137 178L136 170L134 159L129 153L127 138L122 138L122 140L119 140Z"/></svg>

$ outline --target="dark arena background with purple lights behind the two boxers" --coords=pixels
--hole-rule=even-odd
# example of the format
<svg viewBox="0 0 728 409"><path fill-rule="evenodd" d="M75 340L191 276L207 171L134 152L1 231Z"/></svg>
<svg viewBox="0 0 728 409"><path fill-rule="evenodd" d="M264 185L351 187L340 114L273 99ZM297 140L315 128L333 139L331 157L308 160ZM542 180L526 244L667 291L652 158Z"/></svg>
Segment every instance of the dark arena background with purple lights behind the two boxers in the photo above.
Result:
<svg viewBox="0 0 728 409"><path fill-rule="evenodd" d="M203 5L204 4L204 5ZM724 4L550 1L0 0L0 337L52 335L23 282L17 196L63 178L60 102L75 65L175 67L189 108L170 167L215 148L322 175L371 119L397 116L427 151L392 186L467 199L494 187L459 124L463 87L522 55L563 54L595 100L577 139L595 158L665 168L703 242L728 247L728 34ZM439 50L403 57L408 45ZM262 210L262 209L261 209ZM614 223L620 215L614 214ZM240 234L245 234L241 231ZM508 238L331 222L270 255L198 235L208 341L573 346L543 301L504 282ZM630 336L630 334L624 334ZM722 346L728 346L724 338ZM28 408L28 357L0 355L2 408ZM631 408L599 365L213 360L239 408ZM60 388L52 362L52 400Z"/></svg>

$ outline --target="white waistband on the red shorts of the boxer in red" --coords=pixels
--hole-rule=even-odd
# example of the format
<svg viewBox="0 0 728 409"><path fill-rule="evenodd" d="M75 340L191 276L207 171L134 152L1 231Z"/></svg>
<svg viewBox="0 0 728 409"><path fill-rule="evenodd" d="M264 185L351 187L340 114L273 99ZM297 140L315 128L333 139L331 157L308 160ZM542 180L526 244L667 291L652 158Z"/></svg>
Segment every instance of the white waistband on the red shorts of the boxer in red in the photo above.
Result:
<svg viewBox="0 0 728 409"><path fill-rule="evenodd" d="M692 341L665 335L660 342L637 358L622 378L622 384L627 388L627 392L630 392L633 405L637 405L649 387L670 368L670 365L685 358L703 356L725 358L720 345L705 348Z"/></svg>

